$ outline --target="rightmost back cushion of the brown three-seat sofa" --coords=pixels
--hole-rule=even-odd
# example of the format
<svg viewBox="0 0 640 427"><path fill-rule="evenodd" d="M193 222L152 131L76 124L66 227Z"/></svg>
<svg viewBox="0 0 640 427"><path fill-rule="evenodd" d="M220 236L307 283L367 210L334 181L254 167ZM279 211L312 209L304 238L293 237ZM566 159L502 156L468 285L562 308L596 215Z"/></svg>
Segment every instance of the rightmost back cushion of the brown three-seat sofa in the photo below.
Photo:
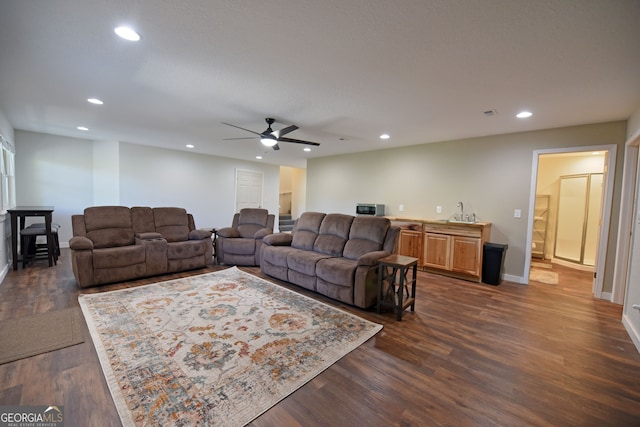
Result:
<svg viewBox="0 0 640 427"><path fill-rule="evenodd" d="M385 236L391 226L388 218L375 216L358 216L351 224L349 240L344 246L342 256L358 259L367 252L379 251L384 244Z"/></svg>

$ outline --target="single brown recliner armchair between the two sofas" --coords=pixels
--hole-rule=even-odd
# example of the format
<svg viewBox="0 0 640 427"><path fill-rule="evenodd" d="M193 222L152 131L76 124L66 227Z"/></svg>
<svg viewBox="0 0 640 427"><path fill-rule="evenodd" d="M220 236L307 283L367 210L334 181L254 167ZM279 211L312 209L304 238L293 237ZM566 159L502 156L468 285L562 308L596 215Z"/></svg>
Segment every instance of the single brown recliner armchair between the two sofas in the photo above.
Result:
<svg viewBox="0 0 640 427"><path fill-rule="evenodd" d="M216 231L219 264L260 265L262 238L273 233L275 215L266 209L245 208L233 216L231 227Z"/></svg>

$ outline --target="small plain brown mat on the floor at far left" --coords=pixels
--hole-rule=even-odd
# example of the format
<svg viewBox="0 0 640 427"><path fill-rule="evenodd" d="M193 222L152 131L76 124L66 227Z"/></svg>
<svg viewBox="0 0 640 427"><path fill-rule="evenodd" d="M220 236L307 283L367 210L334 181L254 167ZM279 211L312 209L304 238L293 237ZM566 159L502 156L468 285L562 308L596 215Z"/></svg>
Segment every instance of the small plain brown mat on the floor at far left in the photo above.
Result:
<svg viewBox="0 0 640 427"><path fill-rule="evenodd" d="M77 307L0 321L0 364L84 342Z"/></svg>

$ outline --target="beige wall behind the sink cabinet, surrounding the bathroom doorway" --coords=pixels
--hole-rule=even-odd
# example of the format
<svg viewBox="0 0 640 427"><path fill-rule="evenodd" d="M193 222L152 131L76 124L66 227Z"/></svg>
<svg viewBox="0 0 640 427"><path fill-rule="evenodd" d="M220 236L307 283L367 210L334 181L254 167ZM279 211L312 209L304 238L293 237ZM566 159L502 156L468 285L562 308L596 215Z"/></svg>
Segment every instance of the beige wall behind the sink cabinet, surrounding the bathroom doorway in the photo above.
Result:
<svg viewBox="0 0 640 427"><path fill-rule="evenodd" d="M610 292L625 135L620 121L309 159L307 209L352 214L357 202L384 203L388 215L445 219L462 201L493 224L491 241L509 245L505 273L523 280L534 150L618 145L603 289Z"/></svg>

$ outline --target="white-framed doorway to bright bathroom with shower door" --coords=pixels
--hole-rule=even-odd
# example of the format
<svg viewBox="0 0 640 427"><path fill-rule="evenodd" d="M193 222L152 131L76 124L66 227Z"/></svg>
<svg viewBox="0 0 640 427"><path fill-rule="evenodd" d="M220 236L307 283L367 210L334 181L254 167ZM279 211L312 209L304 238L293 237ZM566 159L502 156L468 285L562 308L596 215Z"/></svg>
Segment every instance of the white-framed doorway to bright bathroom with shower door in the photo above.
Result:
<svg viewBox="0 0 640 427"><path fill-rule="evenodd" d="M585 291L602 297L612 156L615 146L534 153L528 282L557 284L561 266L591 277Z"/></svg>

